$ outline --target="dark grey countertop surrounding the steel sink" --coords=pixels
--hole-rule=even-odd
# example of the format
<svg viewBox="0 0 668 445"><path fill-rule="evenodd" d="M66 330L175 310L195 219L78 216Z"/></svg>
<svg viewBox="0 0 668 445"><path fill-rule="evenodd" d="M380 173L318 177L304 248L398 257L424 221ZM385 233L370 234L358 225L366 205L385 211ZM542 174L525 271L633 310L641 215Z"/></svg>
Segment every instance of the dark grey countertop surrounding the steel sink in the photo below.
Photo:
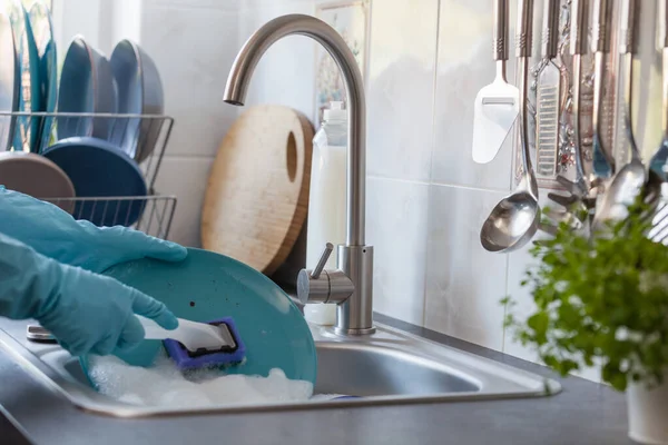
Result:
<svg viewBox="0 0 668 445"><path fill-rule="evenodd" d="M386 325L550 376L551 397L118 419L81 412L0 349L2 444L632 444L626 400L605 385L377 315Z"/></svg>

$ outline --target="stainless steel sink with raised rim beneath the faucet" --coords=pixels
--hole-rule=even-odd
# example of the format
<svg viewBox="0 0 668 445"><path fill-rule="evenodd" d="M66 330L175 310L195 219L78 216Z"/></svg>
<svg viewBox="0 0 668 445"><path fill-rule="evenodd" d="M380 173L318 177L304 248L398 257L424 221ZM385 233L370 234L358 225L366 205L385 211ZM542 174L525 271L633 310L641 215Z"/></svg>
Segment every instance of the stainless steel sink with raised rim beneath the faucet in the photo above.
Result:
<svg viewBox="0 0 668 445"><path fill-rule="evenodd" d="M355 398L203 408L135 406L95 392L75 357L58 345L27 340L27 325L0 320L0 347L77 407L116 417L538 397L561 389L554 380L381 324L376 324L376 334L358 338L340 337L330 329L312 326L318 356L314 394Z"/></svg>

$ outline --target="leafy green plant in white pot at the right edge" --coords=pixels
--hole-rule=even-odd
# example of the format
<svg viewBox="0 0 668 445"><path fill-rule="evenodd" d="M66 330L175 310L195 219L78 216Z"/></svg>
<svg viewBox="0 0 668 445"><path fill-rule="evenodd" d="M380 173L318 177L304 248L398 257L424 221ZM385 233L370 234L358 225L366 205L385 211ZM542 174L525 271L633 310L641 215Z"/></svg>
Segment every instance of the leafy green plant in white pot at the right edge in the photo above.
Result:
<svg viewBox="0 0 668 445"><path fill-rule="evenodd" d="M522 286L536 308L519 318L511 296L505 326L566 376L601 366L601 379L626 392L629 436L668 444L668 247L647 238L647 209L605 235L584 237L561 225L532 247Z"/></svg>

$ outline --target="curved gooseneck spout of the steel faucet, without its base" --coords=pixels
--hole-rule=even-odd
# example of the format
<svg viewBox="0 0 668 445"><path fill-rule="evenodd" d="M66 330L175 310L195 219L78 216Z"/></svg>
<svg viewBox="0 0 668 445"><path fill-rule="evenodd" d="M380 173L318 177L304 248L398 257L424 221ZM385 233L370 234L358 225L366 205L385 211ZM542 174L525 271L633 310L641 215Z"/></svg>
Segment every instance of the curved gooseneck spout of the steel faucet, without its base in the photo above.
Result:
<svg viewBox="0 0 668 445"><path fill-rule="evenodd" d="M346 245L364 246L365 175L366 175L366 103L364 81L348 46L335 29L311 16L288 14L274 19L259 28L237 55L224 100L244 105L253 70L264 52L285 36L302 34L318 41L336 61L343 75L348 107L347 149L347 218Z"/></svg>

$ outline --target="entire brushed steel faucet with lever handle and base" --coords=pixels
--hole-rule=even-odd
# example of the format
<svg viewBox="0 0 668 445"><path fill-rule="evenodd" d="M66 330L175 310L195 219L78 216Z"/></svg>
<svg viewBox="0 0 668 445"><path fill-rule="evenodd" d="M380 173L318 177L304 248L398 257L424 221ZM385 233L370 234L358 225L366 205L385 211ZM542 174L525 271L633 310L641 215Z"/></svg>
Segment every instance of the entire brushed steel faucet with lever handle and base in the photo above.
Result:
<svg viewBox="0 0 668 445"><path fill-rule="evenodd" d="M334 330L342 335L372 334L373 327L373 247L364 245L366 187L366 102L364 82L357 62L335 29L311 16L278 17L259 28L237 55L224 100L244 105L253 70L264 52L285 36L303 34L320 42L336 61L345 83L348 103L348 148L346 168L346 236L337 247L336 269L324 265L334 246L327 244L313 270L302 269L297 296L303 304L336 304Z"/></svg>

